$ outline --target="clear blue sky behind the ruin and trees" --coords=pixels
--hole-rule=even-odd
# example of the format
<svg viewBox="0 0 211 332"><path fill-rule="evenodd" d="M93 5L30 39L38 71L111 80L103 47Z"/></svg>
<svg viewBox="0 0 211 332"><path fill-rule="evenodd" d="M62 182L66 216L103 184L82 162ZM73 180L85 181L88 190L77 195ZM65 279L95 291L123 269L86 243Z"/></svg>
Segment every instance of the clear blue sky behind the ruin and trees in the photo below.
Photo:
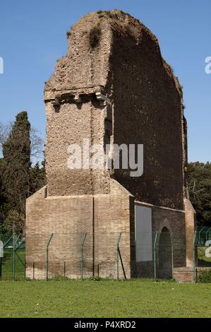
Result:
<svg viewBox="0 0 211 332"><path fill-rule="evenodd" d="M0 119L15 119L25 109L44 138L44 81L56 59L66 54L66 31L85 13L119 8L143 22L158 37L162 56L183 85L188 120L189 161L211 161L210 0L1 0Z"/></svg>

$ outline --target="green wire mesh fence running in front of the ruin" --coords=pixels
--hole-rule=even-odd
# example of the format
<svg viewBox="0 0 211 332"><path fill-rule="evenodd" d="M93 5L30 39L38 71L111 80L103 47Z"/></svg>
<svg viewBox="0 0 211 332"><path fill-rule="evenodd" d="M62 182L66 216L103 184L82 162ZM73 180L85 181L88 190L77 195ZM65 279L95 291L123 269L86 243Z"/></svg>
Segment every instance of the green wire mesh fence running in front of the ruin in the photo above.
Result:
<svg viewBox="0 0 211 332"><path fill-rule="evenodd" d="M2 280L52 278L171 279L186 266L186 237L162 232L52 232L13 235L3 242ZM1 246L0 246L1 247ZM1 253L1 248L0 248ZM1 255L0 255L1 256ZM193 239L193 273L211 268L211 228Z"/></svg>

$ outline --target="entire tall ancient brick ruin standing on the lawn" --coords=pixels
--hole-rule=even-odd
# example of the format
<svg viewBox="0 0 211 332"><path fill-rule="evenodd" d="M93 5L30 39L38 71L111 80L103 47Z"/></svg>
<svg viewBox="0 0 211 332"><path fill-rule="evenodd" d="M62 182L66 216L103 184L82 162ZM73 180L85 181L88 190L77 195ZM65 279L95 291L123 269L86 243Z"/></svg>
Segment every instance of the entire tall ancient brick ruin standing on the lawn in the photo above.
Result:
<svg viewBox="0 0 211 332"><path fill-rule="evenodd" d="M86 234L84 276L116 278L121 233L127 278L152 277L156 255L158 278L183 280L181 268L193 267L195 228L186 120L181 85L155 35L122 11L84 16L68 32L67 55L56 63L44 102L47 186L27 201L26 276L45 278L47 241L54 234L49 275L64 275L65 266L68 278L80 278ZM143 144L143 175L68 169L68 146L84 139Z"/></svg>

